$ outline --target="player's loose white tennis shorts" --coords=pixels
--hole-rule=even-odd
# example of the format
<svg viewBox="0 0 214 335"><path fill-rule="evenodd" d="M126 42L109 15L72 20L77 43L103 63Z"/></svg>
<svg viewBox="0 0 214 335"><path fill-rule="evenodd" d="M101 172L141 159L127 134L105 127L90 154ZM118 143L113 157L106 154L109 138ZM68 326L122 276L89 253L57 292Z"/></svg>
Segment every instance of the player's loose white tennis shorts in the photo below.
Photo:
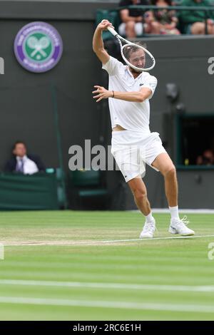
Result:
<svg viewBox="0 0 214 335"><path fill-rule="evenodd" d="M160 153L166 151L159 133L142 135L141 132L133 130L119 130L112 132L111 153L128 182L138 175L144 177L146 164L158 171L151 164Z"/></svg>

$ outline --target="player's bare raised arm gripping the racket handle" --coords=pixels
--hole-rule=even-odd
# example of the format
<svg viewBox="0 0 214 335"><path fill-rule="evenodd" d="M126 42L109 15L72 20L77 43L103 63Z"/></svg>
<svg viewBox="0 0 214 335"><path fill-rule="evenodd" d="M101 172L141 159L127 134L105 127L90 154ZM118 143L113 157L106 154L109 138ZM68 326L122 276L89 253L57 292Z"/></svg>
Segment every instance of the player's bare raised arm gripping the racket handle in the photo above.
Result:
<svg viewBox="0 0 214 335"><path fill-rule="evenodd" d="M93 51L96 53L96 56L98 56L99 60L103 64L106 64L110 58L108 52L104 48L102 38L103 30L106 30L108 27L113 28L111 22L108 20L103 20L100 24L98 24L96 31L93 34Z"/></svg>

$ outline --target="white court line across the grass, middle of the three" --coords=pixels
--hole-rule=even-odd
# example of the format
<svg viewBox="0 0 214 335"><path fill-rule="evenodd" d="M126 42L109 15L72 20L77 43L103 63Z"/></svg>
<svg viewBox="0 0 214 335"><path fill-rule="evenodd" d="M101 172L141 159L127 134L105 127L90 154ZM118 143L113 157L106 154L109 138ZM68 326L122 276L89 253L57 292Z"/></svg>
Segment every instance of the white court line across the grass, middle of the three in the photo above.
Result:
<svg viewBox="0 0 214 335"><path fill-rule="evenodd" d="M146 291L173 292L214 292L214 286L159 285L159 284L123 284L123 283L91 283L91 282L54 282L43 280L0 279L3 285L23 285L41 287L81 287L91 289L128 289Z"/></svg>

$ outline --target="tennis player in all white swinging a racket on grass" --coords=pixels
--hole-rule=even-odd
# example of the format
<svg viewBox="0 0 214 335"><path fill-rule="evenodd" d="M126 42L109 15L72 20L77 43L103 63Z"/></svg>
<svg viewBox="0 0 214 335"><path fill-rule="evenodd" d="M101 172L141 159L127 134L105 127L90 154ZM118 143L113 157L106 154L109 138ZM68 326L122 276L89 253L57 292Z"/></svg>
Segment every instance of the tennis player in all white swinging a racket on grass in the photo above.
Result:
<svg viewBox="0 0 214 335"><path fill-rule="evenodd" d="M171 234L193 235L195 232L186 225L186 217L180 220L178 214L178 182L175 166L158 133L151 133L149 128L149 100L157 86L157 79L147 72L135 71L131 66L108 55L103 46L102 31L113 27L108 20L98 24L93 35L93 51L108 72L108 90L102 86L94 86L96 102L108 98L112 124L113 154L123 177L128 182L136 205L146 217L140 238L152 238L156 229L156 220L148 201L146 185L142 180L145 163L156 171L161 171L165 180L165 195L170 211ZM137 59L138 58L138 59ZM136 57L135 51L129 55L129 62L138 68L143 67L144 60ZM133 63L135 62L135 63ZM136 64L137 62L137 64Z"/></svg>

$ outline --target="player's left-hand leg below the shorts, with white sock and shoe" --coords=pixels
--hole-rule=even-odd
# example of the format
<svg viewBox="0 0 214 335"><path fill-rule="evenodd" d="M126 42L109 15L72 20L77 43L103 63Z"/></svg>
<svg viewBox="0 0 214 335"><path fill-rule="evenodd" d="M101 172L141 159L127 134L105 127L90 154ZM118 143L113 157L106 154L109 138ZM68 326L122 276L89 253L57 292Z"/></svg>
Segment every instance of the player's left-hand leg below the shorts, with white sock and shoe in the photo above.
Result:
<svg viewBox="0 0 214 335"><path fill-rule="evenodd" d="M141 232L140 238L151 238L156 230L156 220L152 216L151 206L148 201L146 185L144 184L141 175L128 181L128 186L131 188L134 200L139 210L146 217L146 223Z"/></svg>

